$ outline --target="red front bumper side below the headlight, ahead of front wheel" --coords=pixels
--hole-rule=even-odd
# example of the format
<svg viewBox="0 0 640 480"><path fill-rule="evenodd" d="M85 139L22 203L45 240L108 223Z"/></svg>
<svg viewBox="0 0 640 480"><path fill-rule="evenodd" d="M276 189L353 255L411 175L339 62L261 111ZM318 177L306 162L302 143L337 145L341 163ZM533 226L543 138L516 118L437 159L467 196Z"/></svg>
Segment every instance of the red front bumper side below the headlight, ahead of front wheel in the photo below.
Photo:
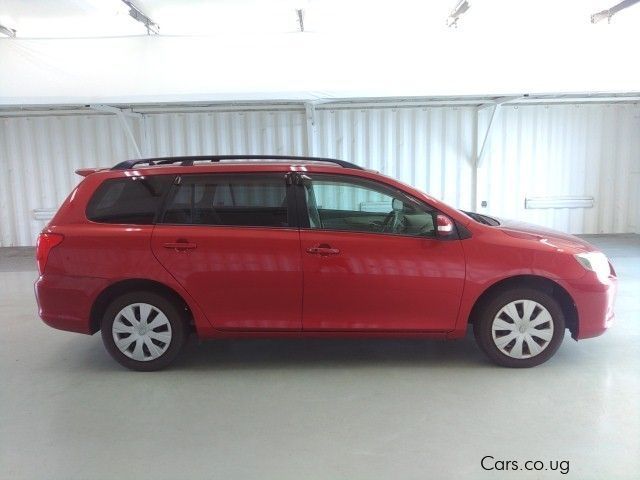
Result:
<svg viewBox="0 0 640 480"><path fill-rule="evenodd" d="M576 340L597 337L611 326L617 282L613 276L602 282L595 274L588 274L569 285L578 310L578 330L573 335Z"/></svg>

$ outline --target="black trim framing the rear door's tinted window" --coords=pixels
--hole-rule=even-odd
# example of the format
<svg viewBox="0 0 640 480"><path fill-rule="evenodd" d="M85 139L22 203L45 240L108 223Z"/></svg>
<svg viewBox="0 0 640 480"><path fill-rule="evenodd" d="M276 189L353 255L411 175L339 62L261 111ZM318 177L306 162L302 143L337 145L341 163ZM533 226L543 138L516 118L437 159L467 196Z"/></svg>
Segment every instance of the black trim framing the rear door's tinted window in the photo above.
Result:
<svg viewBox="0 0 640 480"><path fill-rule="evenodd" d="M197 173L186 173L182 175L176 175L169 188L167 194L165 195L164 202L162 203L160 209L158 210L158 216L156 225L163 226L178 226L178 227L202 227L202 228L250 228L250 229L277 229L277 230L297 230L298 229L298 216L297 216L297 204L296 199L294 198L294 193L291 189L291 183L287 179L287 175L290 172L286 171L274 171L274 172L238 172L238 173L229 173L229 172L197 172ZM287 203L287 223L286 227L280 226L265 226L265 225L210 225L205 223L171 223L165 222L164 217L167 213L167 209L171 204L171 201L175 197L178 191L178 187L182 184L183 179L188 177L234 177L238 178L240 176L267 176L273 178L279 178L284 183L285 187L285 199Z"/></svg>

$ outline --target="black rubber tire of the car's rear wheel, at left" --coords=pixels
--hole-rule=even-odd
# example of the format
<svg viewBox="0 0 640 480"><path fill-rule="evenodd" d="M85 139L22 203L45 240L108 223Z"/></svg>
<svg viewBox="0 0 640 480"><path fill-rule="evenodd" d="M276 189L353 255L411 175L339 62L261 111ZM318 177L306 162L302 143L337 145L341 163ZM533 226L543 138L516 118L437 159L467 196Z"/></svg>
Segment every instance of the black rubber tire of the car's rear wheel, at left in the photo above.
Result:
<svg viewBox="0 0 640 480"><path fill-rule="evenodd" d="M169 327L167 328L165 325L164 331L170 334L170 340L168 342L159 343L161 346L160 349L165 350L157 358L149 358L142 361L136 360L127 356L118 348L118 346L116 346L113 324L118 320L118 318L120 318L118 316L119 312L129 305L138 303L151 305L164 314L168 320ZM139 308L137 311L140 312ZM120 322L121 321L122 320L120 320ZM109 304L102 318L101 334L105 348L118 363L131 370L150 372L163 369L176 359L187 340L188 322L184 311L173 301L154 292L138 291L121 295ZM123 335L125 335L124 338L127 338L126 333ZM132 343L137 345L137 341ZM144 342L141 342L141 344L144 344ZM146 348L146 354L149 353L148 347L144 346L141 348Z"/></svg>

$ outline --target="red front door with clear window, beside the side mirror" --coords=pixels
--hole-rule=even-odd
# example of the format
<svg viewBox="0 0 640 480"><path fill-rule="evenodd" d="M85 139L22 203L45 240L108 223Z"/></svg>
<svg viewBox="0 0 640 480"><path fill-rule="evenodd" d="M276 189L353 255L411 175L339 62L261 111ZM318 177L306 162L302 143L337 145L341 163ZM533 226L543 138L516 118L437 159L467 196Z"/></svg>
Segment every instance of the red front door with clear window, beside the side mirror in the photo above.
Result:
<svg viewBox="0 0 640 480"><path fill-rule="evenodd" d="M460 241L437 239L436 212L381 183L302 178L305 331L444 331L465 276Z"/></svg>

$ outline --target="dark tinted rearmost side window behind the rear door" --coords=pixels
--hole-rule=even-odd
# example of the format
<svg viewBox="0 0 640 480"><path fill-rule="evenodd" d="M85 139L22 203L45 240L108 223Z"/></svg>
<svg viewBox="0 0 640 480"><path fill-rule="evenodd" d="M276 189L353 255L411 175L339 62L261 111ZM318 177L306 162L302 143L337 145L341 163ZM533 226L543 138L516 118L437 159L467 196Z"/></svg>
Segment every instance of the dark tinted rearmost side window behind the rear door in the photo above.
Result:
<svg viewBox="0 0 640 480"><path fill-rule="evenodd" d="M101 223L153 224L172 175L105 180L87 205L87 218Z"/></svg>

